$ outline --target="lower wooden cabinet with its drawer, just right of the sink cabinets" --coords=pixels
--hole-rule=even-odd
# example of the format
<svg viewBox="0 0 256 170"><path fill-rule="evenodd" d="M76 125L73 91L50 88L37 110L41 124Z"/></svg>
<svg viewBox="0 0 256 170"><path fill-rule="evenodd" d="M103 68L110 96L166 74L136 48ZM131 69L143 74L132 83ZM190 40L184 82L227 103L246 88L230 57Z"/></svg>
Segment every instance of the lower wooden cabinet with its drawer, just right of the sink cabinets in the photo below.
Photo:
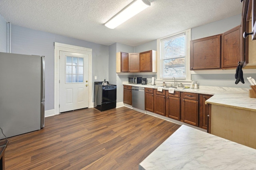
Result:
<svg viewBox="0 0 256 170"><path fill-rule="evenodd" d="M182 92L181 116L184 123L198 126L198 94Z"/></svg>

